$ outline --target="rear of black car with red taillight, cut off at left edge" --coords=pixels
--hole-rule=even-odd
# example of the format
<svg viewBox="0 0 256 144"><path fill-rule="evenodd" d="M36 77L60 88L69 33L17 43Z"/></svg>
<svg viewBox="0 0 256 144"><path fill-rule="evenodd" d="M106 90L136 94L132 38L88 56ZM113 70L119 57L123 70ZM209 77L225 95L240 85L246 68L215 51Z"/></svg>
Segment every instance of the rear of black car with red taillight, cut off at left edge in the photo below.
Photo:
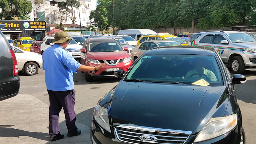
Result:
<svg viewBox="0 0 256 144"><path fill-rule="evenodd" d="M4 27L4 24L0 24L0 29ZM14 51L0 31L0 101L16 96L20 90L20 83Z"/></svg>

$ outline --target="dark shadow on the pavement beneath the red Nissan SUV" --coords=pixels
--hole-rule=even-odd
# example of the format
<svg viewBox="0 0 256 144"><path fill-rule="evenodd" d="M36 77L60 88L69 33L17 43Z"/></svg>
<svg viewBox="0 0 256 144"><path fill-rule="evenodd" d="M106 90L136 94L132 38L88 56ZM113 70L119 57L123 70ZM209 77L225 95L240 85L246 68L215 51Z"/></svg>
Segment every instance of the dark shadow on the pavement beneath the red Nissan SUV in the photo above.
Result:
<svg viewBox="0 0 256 144"><path fill-rule="evenodd" d="M74 84L100 84L100 83L114 83L119 82L120 79L115 77L101 77L101 78L94 78L92 82L87 82L85 80L84 74L81 71L78 71L74 74Z"/></svg>

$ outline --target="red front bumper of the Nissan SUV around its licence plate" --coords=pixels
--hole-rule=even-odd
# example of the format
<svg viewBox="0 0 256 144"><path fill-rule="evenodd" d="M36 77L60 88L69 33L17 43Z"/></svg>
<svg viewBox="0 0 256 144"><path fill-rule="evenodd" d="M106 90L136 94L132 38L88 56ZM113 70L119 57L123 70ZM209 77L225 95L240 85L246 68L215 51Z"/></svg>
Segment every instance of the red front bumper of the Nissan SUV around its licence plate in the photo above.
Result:
<svg viewBox="0 0 256 144"><path fill-rule="evenodd" d="M89 75L93 76L93 77L112 77L114 76L114 72L115 71L107 71L108 68L119 68L119 70L123 70L125 73L128 70L128 68L132 65L132 61L129 61L128 63L118 63L116 66L108 66L107 64L95 71L95 73L92 73L93 71L88 72ZM95 64L89 63L87 62L87 66L97 66Z"/></svg>

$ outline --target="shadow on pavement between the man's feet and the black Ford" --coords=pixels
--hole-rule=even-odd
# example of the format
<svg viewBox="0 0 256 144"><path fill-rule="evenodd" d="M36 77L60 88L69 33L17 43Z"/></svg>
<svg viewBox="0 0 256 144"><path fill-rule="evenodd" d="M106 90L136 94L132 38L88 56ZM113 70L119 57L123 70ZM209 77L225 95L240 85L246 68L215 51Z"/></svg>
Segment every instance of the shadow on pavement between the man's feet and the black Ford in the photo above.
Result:
<svg viewBox="0 0 256 144"><path fill-rule="evenodd" d="M91 144L90 128L94 107L85 110L76 115L76 126L82 131L81 135L67 137L67 127L65 121L60 123L60 132L64 134L64 139L55 142L47 142L46 144ZM48 139L49 140L49 139Z"/></svg>

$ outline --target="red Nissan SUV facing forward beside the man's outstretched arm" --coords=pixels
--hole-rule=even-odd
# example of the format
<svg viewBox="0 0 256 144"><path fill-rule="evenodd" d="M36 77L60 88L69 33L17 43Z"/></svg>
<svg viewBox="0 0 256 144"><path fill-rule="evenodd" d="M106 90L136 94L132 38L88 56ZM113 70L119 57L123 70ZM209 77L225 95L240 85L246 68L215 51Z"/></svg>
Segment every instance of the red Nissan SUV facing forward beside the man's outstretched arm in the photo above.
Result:
<svg viewBox="0 0 256 144"><path fill-rule="evenodd" d="M114 38L100 37L86 39L81 49L81 64L97 66L106 63L97 71L84 72L85 80L92 81L94 77L114 77L116 70L124 73L132 65L131 56Z"/></svg>

